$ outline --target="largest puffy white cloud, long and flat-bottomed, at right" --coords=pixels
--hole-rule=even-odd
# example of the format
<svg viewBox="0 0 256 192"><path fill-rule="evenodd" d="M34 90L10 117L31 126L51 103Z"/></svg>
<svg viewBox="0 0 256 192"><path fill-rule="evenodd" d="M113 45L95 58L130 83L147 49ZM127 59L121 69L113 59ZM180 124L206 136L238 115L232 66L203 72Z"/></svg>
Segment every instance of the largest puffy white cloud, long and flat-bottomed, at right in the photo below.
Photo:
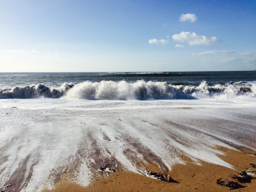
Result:
<svg viewBox="0 0 256 192"><path fill-rule="evenodd" d="M206 37L206 36L201 36L197 35L194 32L184 32L182 31L180 34L174 34L172 36L173 40L175 41L181 41L181 42L186 42L189 45L211 45L213 43L220 42L217 37Z"/></svg>

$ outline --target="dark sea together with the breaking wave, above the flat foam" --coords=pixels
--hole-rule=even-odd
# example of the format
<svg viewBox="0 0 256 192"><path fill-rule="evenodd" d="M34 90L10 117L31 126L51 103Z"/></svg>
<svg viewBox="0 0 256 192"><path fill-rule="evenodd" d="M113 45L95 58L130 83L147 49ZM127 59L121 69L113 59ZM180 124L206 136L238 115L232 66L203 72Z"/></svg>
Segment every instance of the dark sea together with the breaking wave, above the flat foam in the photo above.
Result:
<svg viewBox="0 0 256 192"><path fill-rule="evenodd" d="M256 71L0 73L0 99L254 97L255 85Z"/></svg>

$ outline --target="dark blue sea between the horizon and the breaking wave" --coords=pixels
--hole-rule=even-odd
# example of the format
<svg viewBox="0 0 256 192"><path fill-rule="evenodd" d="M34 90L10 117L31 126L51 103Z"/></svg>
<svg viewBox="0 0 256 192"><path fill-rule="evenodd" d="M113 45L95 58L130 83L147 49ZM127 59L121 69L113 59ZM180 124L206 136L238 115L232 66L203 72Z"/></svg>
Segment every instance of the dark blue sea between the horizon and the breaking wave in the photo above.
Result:
<svg viewBox="0 0 256 192"><path fill-rule="evenodd" d="M208 85L238 81L256 81L256 71L195 71L195 72L95 72L95 73L0 73L0 85L17 86L44 83L47 86L84 81L136 82L166 81L179 85L199 85L203 80Z"/></svg>

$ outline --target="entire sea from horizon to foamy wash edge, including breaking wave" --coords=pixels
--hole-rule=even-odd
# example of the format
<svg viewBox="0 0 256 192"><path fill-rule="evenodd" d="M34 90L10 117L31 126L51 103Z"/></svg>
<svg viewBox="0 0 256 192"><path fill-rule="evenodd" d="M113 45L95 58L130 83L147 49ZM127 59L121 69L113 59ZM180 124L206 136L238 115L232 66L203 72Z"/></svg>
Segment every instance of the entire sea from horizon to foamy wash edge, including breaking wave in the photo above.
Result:
<svg viewBox="0 0 256 192"><path fill-rule="evenodd" d="M86 186L106 164L164 172L180 155L232 168L215 146L255 150L255 120L256 71L0 73L0 187Z"/></svg>

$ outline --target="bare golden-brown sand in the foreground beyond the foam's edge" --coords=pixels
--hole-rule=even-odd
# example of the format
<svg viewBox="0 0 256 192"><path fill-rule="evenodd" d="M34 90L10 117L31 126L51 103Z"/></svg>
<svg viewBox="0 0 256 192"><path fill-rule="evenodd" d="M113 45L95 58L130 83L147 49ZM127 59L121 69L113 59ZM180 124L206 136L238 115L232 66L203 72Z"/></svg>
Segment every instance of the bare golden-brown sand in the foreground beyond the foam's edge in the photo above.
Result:
<svg viewBox="0 0 256 192"><path fill-rule="evenodd" d="M61 180L58 182L54 189L45 189L42 192L62 192L62 191L229 191L230 188L219 186L216 180L223 177L222 180L234 179L228 177L229 174L237 174L239 170L244 168L251 168L256 171L256 168L249 166L249 163L256 164L256 156L248 155L252 153L250 149L240 148L241 151L230 150L225 147L217 146L219 150L226 153L226 156L219 155L221 159L230 163L236 170L227 167L200 162L197 165L191 161L190 158L183 156L184 164L176 164L173 170L168 172L174 180L178 183L169 183L161 180L156 180L144 175L139 175L132 172L117 171L110 173L108 177L98 178L87 186L83 187L76 183ZM146 165L147 170L154 170L161 172L158 166ZM256 173L256 172L255 172ZM244 188L236 189L234 191L256 191L256 178L251 180L251 183L243 183L247 186Z"/></svg>

